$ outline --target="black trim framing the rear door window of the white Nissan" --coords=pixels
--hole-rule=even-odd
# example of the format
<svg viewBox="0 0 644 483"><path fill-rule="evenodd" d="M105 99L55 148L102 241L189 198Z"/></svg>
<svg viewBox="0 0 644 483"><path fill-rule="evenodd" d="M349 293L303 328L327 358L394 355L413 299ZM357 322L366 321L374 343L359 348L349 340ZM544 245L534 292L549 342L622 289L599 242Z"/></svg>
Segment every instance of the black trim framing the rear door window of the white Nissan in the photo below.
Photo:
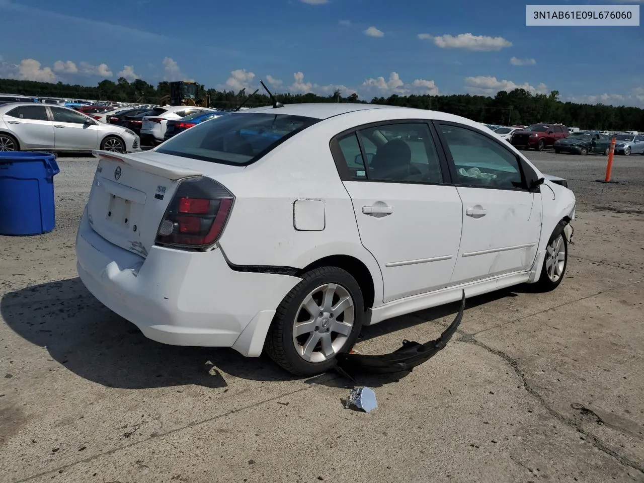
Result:
<svg viewBox="0 0 644 483"><path fill-rule="evenodd" d="M336 164L337 172L340 176L340 179L343 181L361 181L361 182L370 182L370 183L399 183L399 184L422 184L422 185L452 185L454 177L451 172L448 159L445 156L444 148L442 147L442 142L440 142L439 133L437 132L435 126L432 124L430 119L417 119L417 118L406 118L406 119L390 119L377 122L368 122L366 124L361 124L360 126L355 126L354 128L346 129L341 133L337 133L334 137L331 138L329 142L329 147L331 150L331 155L333 156L334 162ZM440 173L442 175L442 182L440 183L428 183L428 182L411 182L411 181L390 181L390 180L372 180L368 178L369 173L369 164L366 158L365 146L363 145L361 136L358 134L358 131L364 129L377 128L378 126L390 126L392 124L424 124L428 131L430 131L431 140L433 141L436 155L439 161ZM339 139L345 138L348 135L354 135L357 138L358 145L360 147L360 153L363 158L363 165L367 173L367 178L363 180L355 180L346 166L345 156L343 155L340 146Z"/></svg>

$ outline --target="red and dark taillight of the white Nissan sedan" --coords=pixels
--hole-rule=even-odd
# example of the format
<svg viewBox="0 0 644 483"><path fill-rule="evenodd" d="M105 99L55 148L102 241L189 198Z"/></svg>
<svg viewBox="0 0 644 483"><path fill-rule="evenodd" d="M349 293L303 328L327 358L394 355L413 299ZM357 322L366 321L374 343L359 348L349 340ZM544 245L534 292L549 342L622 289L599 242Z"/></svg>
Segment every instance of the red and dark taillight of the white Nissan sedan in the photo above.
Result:
<svg viewBox="0 0 644 483"><path fill-rule="evenodd" d="M156 232L156 245L207 249L222 235L234 194L211 178L180 182Z"/></svg>

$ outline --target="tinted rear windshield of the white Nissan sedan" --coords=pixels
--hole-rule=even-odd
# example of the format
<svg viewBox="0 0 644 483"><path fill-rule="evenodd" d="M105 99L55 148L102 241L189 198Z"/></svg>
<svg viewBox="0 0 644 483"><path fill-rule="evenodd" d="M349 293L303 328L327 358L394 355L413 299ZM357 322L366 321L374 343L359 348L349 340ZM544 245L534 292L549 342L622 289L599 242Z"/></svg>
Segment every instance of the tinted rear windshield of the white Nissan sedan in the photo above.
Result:
<svg viewBox="0 0 644 483"><path fill-rule="evenodd" d="M258 160L319 119L266 113L229 113L170 138L158 153L221 164Z"/></svg>

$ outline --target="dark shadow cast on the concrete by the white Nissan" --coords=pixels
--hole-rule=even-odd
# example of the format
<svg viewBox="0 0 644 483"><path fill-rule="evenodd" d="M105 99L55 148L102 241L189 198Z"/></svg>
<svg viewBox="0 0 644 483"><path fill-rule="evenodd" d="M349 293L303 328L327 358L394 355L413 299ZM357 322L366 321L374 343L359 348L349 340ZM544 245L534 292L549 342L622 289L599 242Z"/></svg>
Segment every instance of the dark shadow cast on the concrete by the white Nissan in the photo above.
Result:
<svg viewBox="0 0 644 483"><path fill-rule="evenodd" d="M529 287L527 287L529 289ZM467 308L516 296L524 286L498 290L467 301ZM360 339L398 332L428 321L454 316L459 303L421 310L364 327ZM399 381L408 372L354 375L336 372L301 378L288 374L266 355L243 357L229 348L182 347L147 339L135 325L104 307L79 278L35 285L9 292L0 300L0 314L16 334L48 350L52 359L74 374L107 387L141 389L196 384L227 386L224 375L252 381L298 381L352 388L380 387ZM464 325L467 319L464 320ZM440 330L428 332L425 343ZM401 339L402 343L402 339Z"/></svg>

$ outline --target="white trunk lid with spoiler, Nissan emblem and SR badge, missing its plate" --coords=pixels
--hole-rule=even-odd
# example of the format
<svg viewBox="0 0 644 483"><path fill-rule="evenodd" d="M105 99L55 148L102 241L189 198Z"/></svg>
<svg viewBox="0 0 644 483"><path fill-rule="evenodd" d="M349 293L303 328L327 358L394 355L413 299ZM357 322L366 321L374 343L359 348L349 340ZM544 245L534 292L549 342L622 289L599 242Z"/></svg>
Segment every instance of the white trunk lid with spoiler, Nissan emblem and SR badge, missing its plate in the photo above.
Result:
<svg viewBox="0 0 644 483"><path fill-rule="evenodd" d="M108 242L143 257L154 245L159 224L182 179L204 175L202 168L213 179L234 169L204 162L180 166L184 158L153 152L93 154L99 164L88 200L90 225Z"/></svg>

